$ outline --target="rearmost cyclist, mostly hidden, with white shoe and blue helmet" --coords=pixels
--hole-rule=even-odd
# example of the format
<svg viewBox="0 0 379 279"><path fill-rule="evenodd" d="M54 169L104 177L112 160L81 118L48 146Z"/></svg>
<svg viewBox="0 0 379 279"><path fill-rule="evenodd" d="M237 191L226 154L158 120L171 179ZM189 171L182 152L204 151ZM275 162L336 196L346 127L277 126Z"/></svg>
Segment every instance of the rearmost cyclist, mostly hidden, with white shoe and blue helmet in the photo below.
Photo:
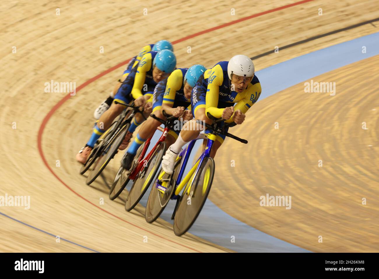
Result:
<svg viewBox="0 0 379 279"><path fill-rule="evenodd" d="M128 76L128 74L130 73L130 71L132 71L132 69L138 65L139 61L141 61L141 58L142 56L147 53L147 52L150 52L150 51L160 51L160 50L164 50L164 49L169 49L171 51L174 51L173 47L172 47L172 44L171 42L169 41L166 41L166 40L161 40L161 41L158 41L156 42L155 44L149 44L149 45L145 45L140 51L139 53L134 56L132 59L130 59L129 63L127 64L127 66L125 67L125 70L124 72L122 73L122 77L119 79L120 82L123 82L125 80L125 78ZM96 110L94 111L94 118L95 119L99 119L100 116L106 111L108 110L108 108L110 107L111 103L113 102L113 99L114 99L114 95L116 95L117 93L117 90L119 89L120 87L120 82L117 82L113 88L113 90L110 92L109 94L109 97L107 99L105 99L100 105L99 107L96 108Z"/></svg>

